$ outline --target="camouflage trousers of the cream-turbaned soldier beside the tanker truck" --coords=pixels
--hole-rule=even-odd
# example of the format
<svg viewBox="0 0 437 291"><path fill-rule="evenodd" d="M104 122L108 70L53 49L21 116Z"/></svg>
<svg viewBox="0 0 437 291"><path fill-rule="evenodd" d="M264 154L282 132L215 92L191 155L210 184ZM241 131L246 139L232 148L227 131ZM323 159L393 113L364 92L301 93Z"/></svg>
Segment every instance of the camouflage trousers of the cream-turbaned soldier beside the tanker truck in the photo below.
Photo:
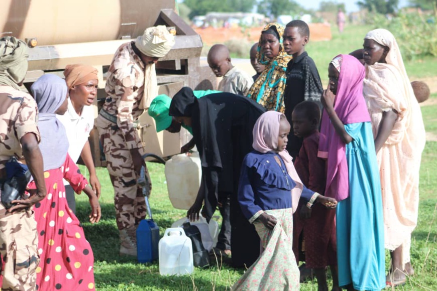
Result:
<svg viewBox="0 0 437 291"><path fill-rule="evenodd" d="M114 206L117 227L122 229L137 226L146 217L146 202L142 189L138 187L138 175L125 139L120 130L98 128L100 142L106 157L106 168L114 187ZM144 155L144 149L139 149ZM149 172L146 168L146 176ZM152 184L150 184L150 189Z"/></svg>

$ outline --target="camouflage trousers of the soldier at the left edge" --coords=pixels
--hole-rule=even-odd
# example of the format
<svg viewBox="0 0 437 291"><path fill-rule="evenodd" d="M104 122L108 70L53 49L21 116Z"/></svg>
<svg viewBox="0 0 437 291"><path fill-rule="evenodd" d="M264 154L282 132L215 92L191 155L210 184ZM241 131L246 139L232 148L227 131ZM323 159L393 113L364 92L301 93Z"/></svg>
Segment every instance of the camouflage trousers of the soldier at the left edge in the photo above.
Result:
<svg viewBox="0 0 437 291"><path fill-rule="evenodd" d="M11 214L0 203L0 255L2 290L35 290L40 256L32 210Z"/></svg>

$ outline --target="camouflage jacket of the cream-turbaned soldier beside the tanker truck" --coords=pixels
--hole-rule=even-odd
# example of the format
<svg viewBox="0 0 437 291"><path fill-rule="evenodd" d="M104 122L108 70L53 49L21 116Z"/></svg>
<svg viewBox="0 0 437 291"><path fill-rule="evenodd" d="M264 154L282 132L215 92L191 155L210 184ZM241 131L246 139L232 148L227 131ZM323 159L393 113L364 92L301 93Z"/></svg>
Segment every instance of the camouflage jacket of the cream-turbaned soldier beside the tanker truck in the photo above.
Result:
<svg viewBox="0 0 437 291"><path fill-rule="evenodd" d="M144 92L144 70L144 63L132 49L132 43L126 43L115 53L106 80L106 99L102 109L117 116L118 128L129 150L142 147L134 121L144 111L139 108ZM109 129L115 124L99 114L95 125Z"/></svg>

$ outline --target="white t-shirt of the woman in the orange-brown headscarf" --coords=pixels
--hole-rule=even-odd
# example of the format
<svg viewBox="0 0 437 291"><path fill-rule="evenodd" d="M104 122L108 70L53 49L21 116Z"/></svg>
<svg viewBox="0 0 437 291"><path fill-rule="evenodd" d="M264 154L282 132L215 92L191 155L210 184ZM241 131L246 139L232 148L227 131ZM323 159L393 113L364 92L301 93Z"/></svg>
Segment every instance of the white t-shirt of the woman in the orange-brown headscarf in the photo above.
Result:
<svg viewBox="0 0 437 291"><path fill-rule="evenodd" d="M67 131L68 142L70 144L68 155L70 155L74 163L77 163L83 146L94 126L94 108L92 106L83 106L82 112L78 115L70 98L68 98L67 112L64 115L56 115L56 117L62 122ZM68 185L68 182L65 180L64 185Z"/></svg>

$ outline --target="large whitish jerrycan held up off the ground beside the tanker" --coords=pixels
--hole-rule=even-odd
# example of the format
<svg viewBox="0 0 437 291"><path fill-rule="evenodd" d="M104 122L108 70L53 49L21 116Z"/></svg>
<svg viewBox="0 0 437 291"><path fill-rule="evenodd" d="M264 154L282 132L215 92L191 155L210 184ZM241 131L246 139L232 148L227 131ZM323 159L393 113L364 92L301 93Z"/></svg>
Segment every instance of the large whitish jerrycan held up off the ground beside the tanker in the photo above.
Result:
<svg viewBox="0 0 437 291"><path fill-rule="evenodd" d="M174 208L188 210L194 204L202 178L199 153L173 156L165 163L168 197Z"/></svg>

